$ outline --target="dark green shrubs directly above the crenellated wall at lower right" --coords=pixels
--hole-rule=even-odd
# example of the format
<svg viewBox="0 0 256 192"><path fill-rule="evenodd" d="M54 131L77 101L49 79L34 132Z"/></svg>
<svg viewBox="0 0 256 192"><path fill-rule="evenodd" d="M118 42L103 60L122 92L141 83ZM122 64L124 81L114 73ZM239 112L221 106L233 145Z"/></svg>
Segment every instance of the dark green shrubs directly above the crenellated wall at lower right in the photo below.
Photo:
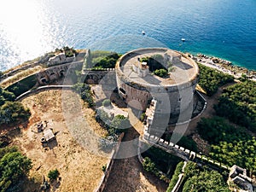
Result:
<svg viewBox="0 0 256 192"><path fill-rule="evenodd" d="M241 166L251 174L256 170L256 139L243 127L230 125L225 119L201 119L198 126L201 137L211 144L210 156L228 166Z"/></svg>

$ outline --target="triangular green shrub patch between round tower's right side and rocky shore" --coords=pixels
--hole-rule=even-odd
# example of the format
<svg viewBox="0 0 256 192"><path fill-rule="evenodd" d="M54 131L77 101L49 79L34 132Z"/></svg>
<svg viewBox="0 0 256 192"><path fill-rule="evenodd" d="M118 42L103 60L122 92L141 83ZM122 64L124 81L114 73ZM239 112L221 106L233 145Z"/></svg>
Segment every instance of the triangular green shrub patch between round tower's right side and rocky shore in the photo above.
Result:
<svg viewBox="0 0 256 192"><path fill-rule="evenodd" d="M205 67L198 64L200 69L200 78L198 84L202 89L206 90L207 96L212 96L217 92L218 87L233 82L234 77L228 74L224 74L216 69Z"/></svg>

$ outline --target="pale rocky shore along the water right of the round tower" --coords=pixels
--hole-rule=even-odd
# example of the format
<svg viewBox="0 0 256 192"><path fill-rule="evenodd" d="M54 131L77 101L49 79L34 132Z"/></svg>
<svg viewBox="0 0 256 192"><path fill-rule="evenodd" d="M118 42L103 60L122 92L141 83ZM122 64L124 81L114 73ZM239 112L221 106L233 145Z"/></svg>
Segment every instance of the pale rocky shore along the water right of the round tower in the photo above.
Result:
<svg viewBox="0 0 256 192"><path fill-rule="evenodd" d="M215 68L223 73L233 75L236 79L241 78L244 74L248 79L256 81L256 71L248 70L245 67L239 67L233 65L230 61L220 59L218 57L207 56L203 54L190 55L196 62L201 63L207 67Z"/></svg>

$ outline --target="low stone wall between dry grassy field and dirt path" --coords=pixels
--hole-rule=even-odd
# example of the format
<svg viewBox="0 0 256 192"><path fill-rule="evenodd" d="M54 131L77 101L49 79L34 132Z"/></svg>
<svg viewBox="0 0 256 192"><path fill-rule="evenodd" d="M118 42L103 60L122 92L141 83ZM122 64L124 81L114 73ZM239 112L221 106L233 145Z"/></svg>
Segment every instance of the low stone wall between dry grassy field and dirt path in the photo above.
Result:
<svg viewBox="0 0 256 192"><path fill-rule="evenodd" d="M104 175L102 176L101 182L99 183L98 187L94 190L95 192L103 192L103 190L105 189L106 183L108 182L109 174L113 167L115 157L119 152L120 143L122 142L122 139L124 136L125 136L124 132L121 133L121 135L119 136L119 141L118 141L115 149L113 149L113 151L111 153L111 159L108 160L106 171L104 172Z"/></svg>

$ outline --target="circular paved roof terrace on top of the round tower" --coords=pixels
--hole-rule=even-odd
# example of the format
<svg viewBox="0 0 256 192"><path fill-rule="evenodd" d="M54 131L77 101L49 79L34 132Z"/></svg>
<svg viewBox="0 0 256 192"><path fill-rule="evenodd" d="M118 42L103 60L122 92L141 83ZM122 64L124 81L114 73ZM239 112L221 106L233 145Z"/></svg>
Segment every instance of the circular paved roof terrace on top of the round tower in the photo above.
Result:
<svg viewBox="0 0 256 192"><path fill-rule="evenodd" d="M156 75L148 74L141 78L132 70L132 66L137 64L137 58L150 57L152 55L177 55L178 52L171 49L137 49L134 52L127 53L120 60L120 70L125 76L138 84L155 84L155 85L172 85L183 84L191 79L195 79L198 73L198 67L192 59L182 55L181 61L172 62L174 70L170 73L169 78L160 78Z"/></svg>

